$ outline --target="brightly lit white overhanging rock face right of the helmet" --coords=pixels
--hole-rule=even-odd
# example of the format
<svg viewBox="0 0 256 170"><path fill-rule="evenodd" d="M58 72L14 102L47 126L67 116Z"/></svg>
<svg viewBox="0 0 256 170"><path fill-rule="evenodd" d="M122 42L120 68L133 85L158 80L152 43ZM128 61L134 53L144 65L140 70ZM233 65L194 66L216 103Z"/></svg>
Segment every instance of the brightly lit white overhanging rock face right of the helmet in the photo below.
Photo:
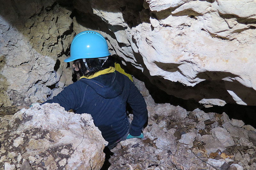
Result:
<svg viewBox="0 0 256 170"><path fill-rule="evenodd" d="M253 50L256 24L251 22L255 19L255 1L146 0L143 7L156 18L148 17L150 23L141 22L132 27L121 22L125 20L121 14L126 11L116 10L116 17L107 16L110 6L113 9L118 4L112 2L105 11L94 14L113 26L110 27L113 32L116 32L115 25L123 27L132 53L131 50L127 53L129 47L118 44L128 44L120 38L124 33L118 34L118 42L108 32L101 33L108 37L117 55L142 71L147 67L151 76L160 77L162 84L143 71L160 89L184 99L194 98L206 107L256 104L252 97L256 89ZM102 9L102 4L93 4L93 9ZM140 19L145 17L140 13ZM143 63L138 63L136 56L141 56ZM167 84L172 82L177 88L168 88Z"/></svg>

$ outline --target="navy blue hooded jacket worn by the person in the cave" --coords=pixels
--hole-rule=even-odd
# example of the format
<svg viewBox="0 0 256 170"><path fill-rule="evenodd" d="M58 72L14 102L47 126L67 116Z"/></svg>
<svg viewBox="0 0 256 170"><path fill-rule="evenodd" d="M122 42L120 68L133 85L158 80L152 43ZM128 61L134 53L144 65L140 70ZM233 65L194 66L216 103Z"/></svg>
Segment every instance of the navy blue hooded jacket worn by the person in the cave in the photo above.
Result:
<svg viewBox="0 0 256 170"><path fill-rule="evenodd" d="M126 103L133 110L132 136L140 136L148 120L146 103L140 91L127 76L117 71L92 79L82 78L45 103L59 103L65 110L91 114L95 126L109 144L115 143L128 131Z"/></svg>

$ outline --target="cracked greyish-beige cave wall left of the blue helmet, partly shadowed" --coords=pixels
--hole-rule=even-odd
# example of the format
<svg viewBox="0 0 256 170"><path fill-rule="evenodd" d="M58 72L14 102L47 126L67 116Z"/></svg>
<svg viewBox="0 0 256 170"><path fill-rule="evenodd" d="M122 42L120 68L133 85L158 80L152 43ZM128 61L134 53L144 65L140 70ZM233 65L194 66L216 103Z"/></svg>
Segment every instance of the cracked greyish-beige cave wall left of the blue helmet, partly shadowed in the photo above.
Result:
<svg viewBox="0 0 256 170"><path fill-rule="evenodd" d="M71 11L52 0L6 1L1 11L0 82L5 92L0 87L0 105L10 106L10 97L14 104L44 101L52 95L49 86L58 82L68 85L62 76L66 67L60 65L58 74L54 67L74 37L73 32L67 33Z"/></svg>

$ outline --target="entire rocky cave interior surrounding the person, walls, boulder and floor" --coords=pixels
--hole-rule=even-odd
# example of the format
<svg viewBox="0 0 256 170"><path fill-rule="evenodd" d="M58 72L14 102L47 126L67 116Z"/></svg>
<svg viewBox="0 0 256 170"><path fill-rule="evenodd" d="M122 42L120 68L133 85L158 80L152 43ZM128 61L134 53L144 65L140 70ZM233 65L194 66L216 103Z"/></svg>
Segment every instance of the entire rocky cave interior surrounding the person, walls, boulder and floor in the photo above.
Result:
<svg viewBox="0 0 256 170"><path fill-rule="evenodd" d="M255 2L233 4L238 13L225 2L161 3L2 3L0 169L256 169ZM88 30L106 39L148 110L144 138L111 150L90 116L29 107L79 81L64 60Z"/></svg>

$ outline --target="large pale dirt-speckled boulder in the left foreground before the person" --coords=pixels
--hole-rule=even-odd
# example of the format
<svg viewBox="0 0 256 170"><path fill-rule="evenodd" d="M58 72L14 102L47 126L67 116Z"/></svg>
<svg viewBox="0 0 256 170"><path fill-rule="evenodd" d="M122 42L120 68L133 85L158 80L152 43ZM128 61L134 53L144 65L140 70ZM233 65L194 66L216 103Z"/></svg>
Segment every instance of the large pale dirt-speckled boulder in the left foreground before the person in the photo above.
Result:
<svg viewBox="0 0 256 170"><path fill-rule="evenodd" d="M100 169L108 144L91 115L36 104L1 117L0 169Z"/></svg>

